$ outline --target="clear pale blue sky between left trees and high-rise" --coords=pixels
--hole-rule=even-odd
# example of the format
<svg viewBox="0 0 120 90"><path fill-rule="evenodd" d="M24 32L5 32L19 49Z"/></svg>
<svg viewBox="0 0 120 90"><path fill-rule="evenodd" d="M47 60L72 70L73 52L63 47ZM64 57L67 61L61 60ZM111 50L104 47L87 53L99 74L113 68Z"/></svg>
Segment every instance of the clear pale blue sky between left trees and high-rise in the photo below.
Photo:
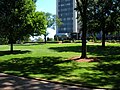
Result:
<svg viewBox="0 0 120 90"><path fill-rule="evenodd" d="M37 0L36 6L37 11L56 14L56 0Z"/></svg>

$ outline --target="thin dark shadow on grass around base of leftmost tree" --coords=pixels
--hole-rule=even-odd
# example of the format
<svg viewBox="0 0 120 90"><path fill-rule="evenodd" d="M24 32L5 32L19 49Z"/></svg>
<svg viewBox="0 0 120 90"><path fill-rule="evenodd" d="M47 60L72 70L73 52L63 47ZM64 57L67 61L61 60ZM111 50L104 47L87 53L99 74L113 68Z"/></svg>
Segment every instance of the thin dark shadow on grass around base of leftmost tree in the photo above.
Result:
<svg viewBox="0 0 120 90"><path fill-rule="evenodd" d="M0 56L10 55L10 54L25 54L25 53L30 53L30 52L31 51L29 51L29 50L25 50L25 51L14 50L12 53L11 53L11 51L0 51Z"/></svg>

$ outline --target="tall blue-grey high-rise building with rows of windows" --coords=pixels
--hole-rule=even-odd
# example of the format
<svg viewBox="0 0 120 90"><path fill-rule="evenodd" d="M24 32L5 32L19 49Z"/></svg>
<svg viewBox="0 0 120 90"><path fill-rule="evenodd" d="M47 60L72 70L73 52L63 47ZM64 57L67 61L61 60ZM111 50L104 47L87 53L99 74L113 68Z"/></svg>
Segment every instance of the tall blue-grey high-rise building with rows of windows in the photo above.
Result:
<svg viewBox="0 0 120 90"><path fill-rule="evenodd" d="M56 0L56 14L62 25L57 27L56 34L77 33L77 13L74 10L76 0Z"/></svg>

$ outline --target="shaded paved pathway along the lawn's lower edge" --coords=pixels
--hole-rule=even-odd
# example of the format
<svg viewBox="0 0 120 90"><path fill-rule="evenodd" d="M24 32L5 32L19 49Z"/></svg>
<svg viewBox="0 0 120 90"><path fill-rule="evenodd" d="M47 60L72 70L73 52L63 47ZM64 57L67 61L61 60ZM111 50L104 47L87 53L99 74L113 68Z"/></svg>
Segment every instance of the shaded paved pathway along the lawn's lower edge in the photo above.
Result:
<svg viewBox="0 0 120 90"><path fill-rule="evenodd" d="M0 73L0 90L92 90Z"/></svg>

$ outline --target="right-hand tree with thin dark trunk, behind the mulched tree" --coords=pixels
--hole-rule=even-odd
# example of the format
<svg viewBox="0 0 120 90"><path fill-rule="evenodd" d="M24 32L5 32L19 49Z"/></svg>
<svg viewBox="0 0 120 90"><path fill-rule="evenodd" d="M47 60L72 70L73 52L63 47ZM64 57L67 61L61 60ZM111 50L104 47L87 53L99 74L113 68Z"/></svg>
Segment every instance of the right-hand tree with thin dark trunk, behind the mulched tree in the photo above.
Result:
<svg viewBox="0 0 120 90"><path fill-rule="evenodd" d="M105 47L106 34L114 32L117 29L116 20L119 17L120 1L119 0L96 0L94 5L94 19L99 21L100 30L102 31L102 47Z"/></svg>

